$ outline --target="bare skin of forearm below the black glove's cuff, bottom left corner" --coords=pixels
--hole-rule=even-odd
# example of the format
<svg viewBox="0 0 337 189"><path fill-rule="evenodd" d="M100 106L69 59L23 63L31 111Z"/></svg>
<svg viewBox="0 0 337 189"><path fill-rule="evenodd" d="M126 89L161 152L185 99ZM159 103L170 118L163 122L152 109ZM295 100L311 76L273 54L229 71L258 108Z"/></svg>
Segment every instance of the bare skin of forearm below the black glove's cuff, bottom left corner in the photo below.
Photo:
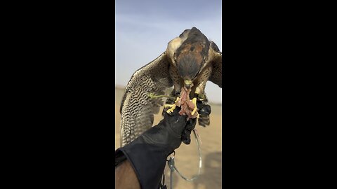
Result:
<svg viewBox="0 0 337 189"><path fill-rule="evenodd" d="M121 162L121 165L118 165L114 169L114 188L136 188L140 189L140 184L136 176L135 170L131 163L128 160Z"/></svg>

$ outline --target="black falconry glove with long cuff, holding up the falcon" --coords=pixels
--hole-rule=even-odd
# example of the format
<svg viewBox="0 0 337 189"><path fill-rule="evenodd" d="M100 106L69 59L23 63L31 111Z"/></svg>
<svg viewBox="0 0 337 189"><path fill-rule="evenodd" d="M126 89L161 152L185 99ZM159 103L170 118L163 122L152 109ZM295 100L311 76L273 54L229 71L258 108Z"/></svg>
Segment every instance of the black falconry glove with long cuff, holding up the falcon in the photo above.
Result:
<svg viewBox="0 0 337 189"><path fill-rule="evenodd" d="M127 158L142 188L159 187L167 156L180 146L185 128L192 130L197 123L197 119L187 121L187 116L180 116L179 111L178 107L171 115L165 111L158 125L115 151L115 166Z"/></svg>

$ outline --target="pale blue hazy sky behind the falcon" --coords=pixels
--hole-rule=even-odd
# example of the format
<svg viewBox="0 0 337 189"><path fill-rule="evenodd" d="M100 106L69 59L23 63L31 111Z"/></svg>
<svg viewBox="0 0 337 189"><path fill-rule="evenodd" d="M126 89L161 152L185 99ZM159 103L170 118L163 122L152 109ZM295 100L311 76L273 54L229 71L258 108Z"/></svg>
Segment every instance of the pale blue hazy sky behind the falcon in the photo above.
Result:
<svg viewBox="0 0 337 189"><path fill-rule="evenodd" d="M115 77L125 86L132 74L166 50L185 29L197 27L222 50L220 0L115 1ZM210 102L221 103L222 90L206 84Z"/></svg>

